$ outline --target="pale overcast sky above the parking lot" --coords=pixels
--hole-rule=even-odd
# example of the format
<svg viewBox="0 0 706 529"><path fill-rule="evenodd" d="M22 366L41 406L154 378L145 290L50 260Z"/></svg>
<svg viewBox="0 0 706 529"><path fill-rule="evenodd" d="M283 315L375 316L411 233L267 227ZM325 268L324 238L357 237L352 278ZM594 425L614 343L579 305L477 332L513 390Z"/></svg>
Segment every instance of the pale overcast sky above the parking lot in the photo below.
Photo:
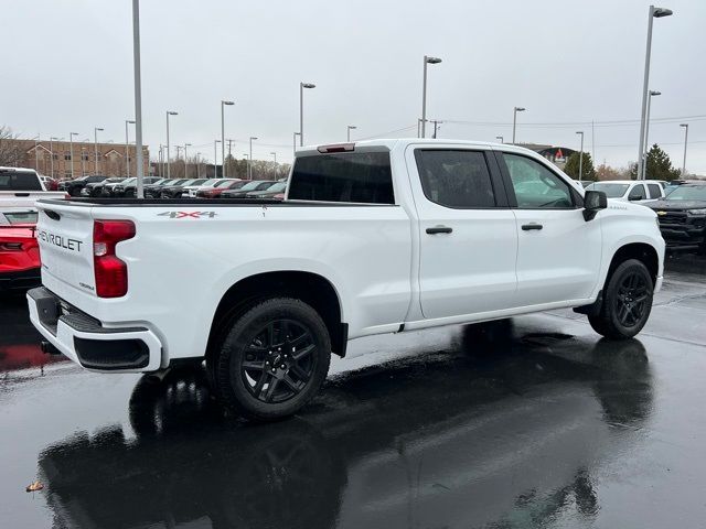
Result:
<svg viewBox="0 0 706 529"><path fill-rule="evenodd" d="M637 159L649 2L590 1L250 1L141 2L142 114L152 158L165 143L213 159L221 136L234 154L290 161L299 128L299 82L308 143L416 136L425 54L428 117L446 121L441 138L517 141L578 148L586 132L597 162ZM650 142L682 163L689 123L687 170L706 174L706 1L668 0L674 15L656 19L650 86ZM125 141L133 115L130 0L33 0L2 10L0 125L23 137L38 132ZM689 117L689 118L686 118ZM606 123L629 121L627 125ZM584 122L584 125L580 125ZM489 125L472 125L489 123ZM550 123L550 125L528 125ZM564 123L564 125L557 125ZM404 129L398 131L397 129ZM133 139L133 130L130 131ZM174 151L172 151L172 154ZM220 158L220 154L218 154Z"/></svg>

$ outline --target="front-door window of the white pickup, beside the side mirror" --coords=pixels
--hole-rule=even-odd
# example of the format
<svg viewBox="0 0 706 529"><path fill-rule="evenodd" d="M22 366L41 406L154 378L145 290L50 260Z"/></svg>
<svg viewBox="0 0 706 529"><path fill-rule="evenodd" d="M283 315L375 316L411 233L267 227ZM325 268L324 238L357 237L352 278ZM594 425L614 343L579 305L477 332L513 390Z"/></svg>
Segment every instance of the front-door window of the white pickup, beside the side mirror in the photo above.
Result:
<svg viewBox="0 0 706 529"><path fill-rule="evenodd" d="M517 207L573 208L574 199L566 182L539 162L518 154L503 153L515 191Z"/></svg>

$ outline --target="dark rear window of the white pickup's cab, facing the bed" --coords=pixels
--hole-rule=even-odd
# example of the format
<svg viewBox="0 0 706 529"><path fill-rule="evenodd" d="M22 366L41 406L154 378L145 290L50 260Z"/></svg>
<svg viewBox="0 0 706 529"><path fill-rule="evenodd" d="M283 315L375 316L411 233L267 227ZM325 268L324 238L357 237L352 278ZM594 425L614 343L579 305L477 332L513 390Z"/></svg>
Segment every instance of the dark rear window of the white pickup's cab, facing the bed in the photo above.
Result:
<svg viewBox="0 0 706 529"><path fill-rule="evenodd" d="M295 162L290 199L394 204L388 152L341 152Z"/></svg>

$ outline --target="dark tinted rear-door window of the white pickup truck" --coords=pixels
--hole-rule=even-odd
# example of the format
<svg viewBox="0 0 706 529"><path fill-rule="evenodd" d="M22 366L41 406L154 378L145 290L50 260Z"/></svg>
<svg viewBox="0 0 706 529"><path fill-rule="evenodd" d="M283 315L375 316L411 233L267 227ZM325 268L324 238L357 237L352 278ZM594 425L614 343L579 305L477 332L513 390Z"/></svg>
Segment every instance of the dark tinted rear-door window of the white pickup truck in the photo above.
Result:
<svg viewBox="0 0 706 529"><path fill-rule="evenodd" d="M480 151L415 151L425 196L452 208L495 207L485 154Z"/></svg>

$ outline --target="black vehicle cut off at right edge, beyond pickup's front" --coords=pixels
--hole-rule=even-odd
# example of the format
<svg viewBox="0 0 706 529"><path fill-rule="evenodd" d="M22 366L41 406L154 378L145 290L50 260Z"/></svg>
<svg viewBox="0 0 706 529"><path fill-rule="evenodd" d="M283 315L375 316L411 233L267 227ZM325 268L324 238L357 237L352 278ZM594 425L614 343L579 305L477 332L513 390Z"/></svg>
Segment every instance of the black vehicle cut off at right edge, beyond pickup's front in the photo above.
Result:
<svg viewBox="0 0 706 529"><path fill-rule="evenodd" d="M682 184L650 207L667 250L706 255L706 182Z"/></svg>

